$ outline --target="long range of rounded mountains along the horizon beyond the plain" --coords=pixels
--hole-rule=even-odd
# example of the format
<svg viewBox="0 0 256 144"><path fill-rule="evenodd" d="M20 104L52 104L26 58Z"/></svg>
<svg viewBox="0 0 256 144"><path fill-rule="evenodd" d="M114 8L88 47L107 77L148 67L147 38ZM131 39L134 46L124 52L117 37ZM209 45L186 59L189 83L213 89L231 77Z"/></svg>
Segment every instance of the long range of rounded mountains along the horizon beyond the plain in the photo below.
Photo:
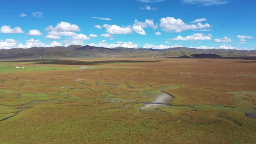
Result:
<svg viewBox="0 0 256 144"><path fill-rule="evenodd" d="M171 57L201 53L212 53L220 56L256 56L256 50L234 49L195 49L195 48L168 48L168 49L145 49L123 48L113 49L70 45L55 47L33 47L29 49L1 49L0 59L16 58L81 58L81 57Z"/></svg>

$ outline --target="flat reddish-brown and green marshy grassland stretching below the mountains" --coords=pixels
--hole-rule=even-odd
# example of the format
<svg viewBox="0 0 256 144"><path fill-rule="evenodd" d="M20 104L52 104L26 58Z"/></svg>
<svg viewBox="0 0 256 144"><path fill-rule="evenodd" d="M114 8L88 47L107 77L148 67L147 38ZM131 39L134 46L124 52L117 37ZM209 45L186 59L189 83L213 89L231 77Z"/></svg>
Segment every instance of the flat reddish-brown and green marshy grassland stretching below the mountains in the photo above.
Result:
<svg viewBox="0 0 256 144"><path fill-rule="evenodd" d="M255 144L255 85L255 60L0 61L0 144Z"/></svg>

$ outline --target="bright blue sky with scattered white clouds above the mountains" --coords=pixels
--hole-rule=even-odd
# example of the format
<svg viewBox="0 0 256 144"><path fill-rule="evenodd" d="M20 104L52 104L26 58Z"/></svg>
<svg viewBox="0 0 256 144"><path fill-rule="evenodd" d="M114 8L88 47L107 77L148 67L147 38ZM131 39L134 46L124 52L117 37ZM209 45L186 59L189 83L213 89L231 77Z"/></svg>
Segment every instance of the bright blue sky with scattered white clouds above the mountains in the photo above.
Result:
<svg viewBox="0 0 256 144"><path fill-rule="evenodd" d="M0 0L0 5L0 49L256 50L255 0Z"/></svg>

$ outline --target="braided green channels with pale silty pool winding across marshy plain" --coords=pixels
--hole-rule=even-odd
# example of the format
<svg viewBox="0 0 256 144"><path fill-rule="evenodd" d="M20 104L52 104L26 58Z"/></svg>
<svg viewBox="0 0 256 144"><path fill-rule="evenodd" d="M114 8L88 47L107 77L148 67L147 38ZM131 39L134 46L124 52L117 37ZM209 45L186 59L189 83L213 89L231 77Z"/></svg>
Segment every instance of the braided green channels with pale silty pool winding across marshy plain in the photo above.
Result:
<svg viewBox="0 0 256 144"><path fill-rule="evenodd" d="M80 83L79 85L95 85L95 84L87 84L84 82L80 82L80 79L78 81L77 80L78 79L76 79L76 82ZM103 83L96 83L96 84L97 85L110 85L110 84L103 84ZM25 85L21 85L21 86L25 86ZM75 85L71 85L71 86L75 86ZM117 84L112 84L110 89L115 88L115 86L117 86ZM40 86L40 87L48 88L48 86ZM219 109L223 110L222 114L220 114L218 116L219 118L231 120L232 122L236 123L239 126L240 126L240 123L235 121L234 119L228 118L226 116L226 112L236 110L236 111L243 112L245 114L244 116L246 116L248 118L255 119L255 117L256 117L256 115L255 115L256 110L254 108L255 104L252 101L245 100L245 98L248 97L248 95L250 97L256 96L256 92L227 92L229 94L234 94L235 98L240 99L239 101L234 102L234 103L238 104L238 107L232 108L232 107L225 107L222 105L171 105L170 103L171 103L171 101L173 101L174 96L164 92L164 90L180 88L180 85L162 86L162 87L152 87L150 85L147 85L147 86L141 87L141 88L133 88L132 86L129 86L129 88L131 89L131 91L129 91L129 92L135 92L135 94L138 96L137 98L134 98L134 99L123 99L122 98L122 96L128 94L129 92L125 92L124 94L115 95L115 94L111 94L110 92L108 92L108 90L101 92L102 94L106 95L106 97L103 97L103 98L80 98L80 97L77 97L74 95L63 94L63 92L67 92L67 91L70 91L73 89L78 89L78 88L68 88L68 87L69 86L61 87L62 89L67 89L66 91L62 91L62 92L60 92L60 94L58 94L58 95L63 96L63 98L49 99L46 101L31 101L26 104L10 106L13 108L17 108L17 111L13 111L12 113L9 113L10 114L9 116L6 116L5 118L1 119L0 121L7 120L11 117L14 117L17 114L19 114L21 111L27 110L28 108L32 108L33 105L45 104L45 103L49 103L49 102L65 101L65 100L95 101L95 100L104 100L104 99L108 99L109 101L112 101L112 102L128 102L129 104L127 104L127 105L131 105L134 103L144 104L143 106L139 107L139 109L142 113L153 112L153 113L161 113L161 114L167 114L167 115L169 113L167 113L165 111L161 111L161 108L201 108L201 107L219 108ZM150 91L144 91L144 92L136 92L137 89L141 90L141 89L147 88L147 87L152 87L152 88L156 88L156 89L150 90ZM127 107L125 107L125 108L127 108Z"/></svg>

